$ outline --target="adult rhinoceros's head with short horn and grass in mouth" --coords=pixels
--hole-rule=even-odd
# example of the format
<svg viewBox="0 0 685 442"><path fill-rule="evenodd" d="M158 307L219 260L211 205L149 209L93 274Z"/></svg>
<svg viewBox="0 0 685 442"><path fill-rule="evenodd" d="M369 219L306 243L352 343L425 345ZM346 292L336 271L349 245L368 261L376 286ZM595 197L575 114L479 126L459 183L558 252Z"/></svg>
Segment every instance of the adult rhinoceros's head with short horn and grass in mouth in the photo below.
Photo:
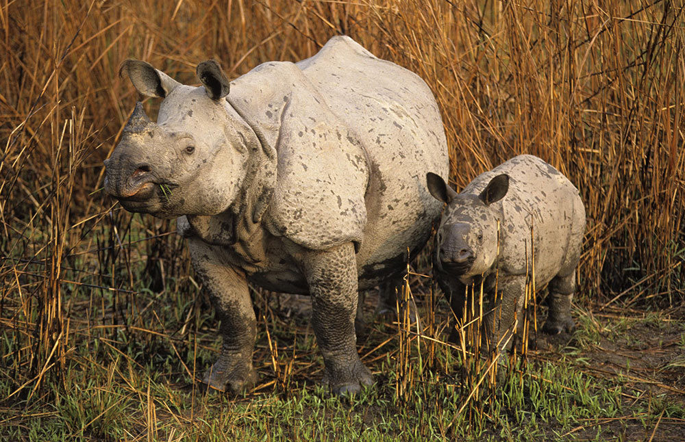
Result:
<svg viewBox="0 0 685 442"><path fill-rule="evenodd" d="M240 193L255 133L224 99L229 82L213 60L197 67L203 86L184 86L151 65L121 66L141 94L164 99L157 122L138 103L105 160L105 191L129 211L160 218L216 215Z"/></svg>

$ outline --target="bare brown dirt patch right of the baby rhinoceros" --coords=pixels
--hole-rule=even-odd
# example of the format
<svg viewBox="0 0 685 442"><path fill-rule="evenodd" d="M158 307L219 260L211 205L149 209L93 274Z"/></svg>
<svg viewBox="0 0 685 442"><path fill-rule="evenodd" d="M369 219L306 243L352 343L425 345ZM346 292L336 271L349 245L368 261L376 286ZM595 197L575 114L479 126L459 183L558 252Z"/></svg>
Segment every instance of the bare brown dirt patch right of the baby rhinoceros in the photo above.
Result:
<svg viewBox="0 0 685 442"><path fill-rule="evenodd" d="M582 372L621 385L625 413L593 419L566 435L593 440L601 426L604 439L684 441L685 323L672 315L589 315L591 324L574 335L538 334L538 349L552 358L573 352Z"/></svg>

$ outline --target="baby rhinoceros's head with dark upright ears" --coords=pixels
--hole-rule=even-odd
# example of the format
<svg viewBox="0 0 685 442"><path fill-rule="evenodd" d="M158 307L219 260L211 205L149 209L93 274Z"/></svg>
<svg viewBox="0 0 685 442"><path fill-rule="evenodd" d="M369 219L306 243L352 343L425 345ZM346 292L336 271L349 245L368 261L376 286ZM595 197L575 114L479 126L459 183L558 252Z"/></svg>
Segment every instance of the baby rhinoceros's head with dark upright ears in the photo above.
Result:
<svg viewBox="0 0 685 442"><path fill-rule="evenodd" d="M430 172L426 178L429 192L447 203L436 237L438 269L462 280L484 274L497 259L499 217L491 205L506 195L508 175L497 175L479 195L457 194Z"/></svg>

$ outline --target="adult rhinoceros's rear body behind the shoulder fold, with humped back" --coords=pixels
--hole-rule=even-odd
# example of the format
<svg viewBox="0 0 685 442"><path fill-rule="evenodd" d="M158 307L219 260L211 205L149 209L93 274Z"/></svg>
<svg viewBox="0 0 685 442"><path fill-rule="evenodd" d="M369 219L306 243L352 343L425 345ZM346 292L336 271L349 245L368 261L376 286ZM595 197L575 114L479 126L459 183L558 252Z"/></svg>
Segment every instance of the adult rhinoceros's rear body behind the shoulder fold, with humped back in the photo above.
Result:
<svg viewBox="0 0 685 442"><path fill-rule="evenodd" d="M336 37L297 63L332 110L362 142L371 169L360 270L384 272L423 246L442 205L425 189L426 172L447 178L447 141L425 81Z"/></svg>

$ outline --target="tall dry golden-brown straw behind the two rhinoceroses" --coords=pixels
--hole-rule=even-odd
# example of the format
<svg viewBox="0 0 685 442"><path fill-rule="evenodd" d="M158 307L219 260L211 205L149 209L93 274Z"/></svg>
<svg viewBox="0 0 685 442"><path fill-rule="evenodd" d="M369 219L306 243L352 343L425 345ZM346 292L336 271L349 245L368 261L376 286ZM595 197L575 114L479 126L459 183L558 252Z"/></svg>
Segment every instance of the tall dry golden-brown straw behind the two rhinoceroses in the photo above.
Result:
<svg viewBox="0 0 685 442"><path fill-rule="evenodd" d="M0 376L27 397L95 333L151 342L136 330L159 296L195 290L173 224L97 192L140 99L119 63L197 83L207 58L237 77L336 34L427 81L456 187L519 153L575 183L588 213L578 302L682 302L682 14L673 1L0 1Z"/></svg>

